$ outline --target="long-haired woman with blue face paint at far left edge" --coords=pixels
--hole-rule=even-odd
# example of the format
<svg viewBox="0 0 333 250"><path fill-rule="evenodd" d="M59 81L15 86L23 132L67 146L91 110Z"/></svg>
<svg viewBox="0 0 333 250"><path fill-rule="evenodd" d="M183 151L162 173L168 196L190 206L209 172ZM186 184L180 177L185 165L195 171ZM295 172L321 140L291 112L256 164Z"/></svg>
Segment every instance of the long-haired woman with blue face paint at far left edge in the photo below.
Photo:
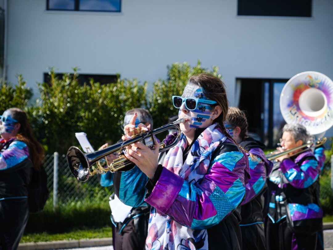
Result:
<svg viewBox="0 0 333 250"><path fill-rule="evenodd" d="M44 150L21 109L0 116L0 135L0 249L17 249L28 221L32 168L40 169Z"/></svg>

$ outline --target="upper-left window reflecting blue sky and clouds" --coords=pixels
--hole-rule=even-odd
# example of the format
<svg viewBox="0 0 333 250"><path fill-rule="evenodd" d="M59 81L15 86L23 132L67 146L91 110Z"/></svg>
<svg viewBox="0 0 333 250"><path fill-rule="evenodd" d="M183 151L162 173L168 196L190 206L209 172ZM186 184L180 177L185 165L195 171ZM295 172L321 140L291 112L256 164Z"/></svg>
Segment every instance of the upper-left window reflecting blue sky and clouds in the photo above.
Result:
<svg viewBox="0 0 333 250"><path fill-rule="evenodd" d="M47 0L46 9L120 12L121 0Z"/></svg>

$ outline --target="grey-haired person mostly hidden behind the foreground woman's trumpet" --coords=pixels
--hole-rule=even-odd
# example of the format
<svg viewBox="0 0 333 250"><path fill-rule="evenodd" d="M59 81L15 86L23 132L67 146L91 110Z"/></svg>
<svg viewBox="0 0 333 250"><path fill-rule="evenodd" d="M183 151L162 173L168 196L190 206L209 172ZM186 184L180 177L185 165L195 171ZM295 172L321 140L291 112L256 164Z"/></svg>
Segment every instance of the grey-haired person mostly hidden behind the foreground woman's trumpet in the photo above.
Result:
<svg viewBox="0 0 333 250"><path fill-rule="evenodd" d="M149 128L153 128L153 118L148 110L143 108L135 108L126 112L123 125L126 126L130 123L130 120L134 114L137 114L135 120L136 126L140 123ZM157 139L157 138L156 138ZM160 142L157 139L158 142ZM108 147L106 143L99 149ZM118 156L110 154L107 156L107 160L111 163ZM113 185L113 173L107 172L101 175L100 183L103 187L109 187ZM128 217L123 222L116 222L114 215L117 211L112 211L111 221L113 227L113 247L115 250L142 250L145 246L145 240L148 232L148 218L149 218L150 206L132 208Z"/></svg>

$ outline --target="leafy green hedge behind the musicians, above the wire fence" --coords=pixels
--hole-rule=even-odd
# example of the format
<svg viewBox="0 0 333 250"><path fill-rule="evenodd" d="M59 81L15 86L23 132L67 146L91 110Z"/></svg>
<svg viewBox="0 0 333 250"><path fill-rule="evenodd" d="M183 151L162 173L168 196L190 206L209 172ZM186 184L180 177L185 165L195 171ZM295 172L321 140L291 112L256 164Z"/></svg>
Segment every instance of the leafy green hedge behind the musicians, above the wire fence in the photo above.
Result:
<svg viewBox="0 0 333 250"><path fill-rule="evenodd" d="M148 83L137 79L118 77L117 82L104 85L90 79L89 83L80 85L76 68L62 77L50 68L49 83L38 83L39 97L29 106L32 91L25 87L21 75L15 87L2 83L0 112L14 106L25 109L46 153L66 154L70 146L79 146L75 132L81 131L86 132L93 147L98 148L106 141L120 139L120 123L129 109L148 109L155 128L166 124L168 117L178 112L171 103L171 96L181 95L188 78L201 72L221 77L217 67L202 68L200 61L193 67L174 63L167 67L167 78L158 79L153 83L153 91L148 92Z"/></svg>

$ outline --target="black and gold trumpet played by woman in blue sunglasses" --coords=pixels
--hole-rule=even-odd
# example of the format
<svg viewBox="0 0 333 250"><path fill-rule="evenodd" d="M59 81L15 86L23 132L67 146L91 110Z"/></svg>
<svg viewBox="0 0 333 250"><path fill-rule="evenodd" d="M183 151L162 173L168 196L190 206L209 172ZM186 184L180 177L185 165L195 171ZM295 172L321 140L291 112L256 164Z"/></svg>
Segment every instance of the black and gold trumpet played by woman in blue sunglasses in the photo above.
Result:
<svg viewBox="0 0 333 250"><path fill-rule="evenodd" d="M166 146L163 142L160 143L159 152L166 151L178 143L180 139L180 128L178 124L183 122L185 122L185 119L179 118L174 122L168 123L149 132L136 128L134 131L132 131L132 139L118 142L107 148L92 153L83 153L79 148L72 146L67 151L68 166L72 174L79 181L87 181L89 176L93 176L95 174L103 174L109 171L118 171L130 164L133 164L130 160L121 154L126 146L138 141L142 141L145 145L149 146L151 149L154 149L154 135L164 132L168 129L175 128L177 130L177 136L174 142L168 146ZM107 161L106 164L98 163L101 159L112 153L117 153L119 156L110 165ZM93 166L96 162L98 163L97 167Z"/></svg>

